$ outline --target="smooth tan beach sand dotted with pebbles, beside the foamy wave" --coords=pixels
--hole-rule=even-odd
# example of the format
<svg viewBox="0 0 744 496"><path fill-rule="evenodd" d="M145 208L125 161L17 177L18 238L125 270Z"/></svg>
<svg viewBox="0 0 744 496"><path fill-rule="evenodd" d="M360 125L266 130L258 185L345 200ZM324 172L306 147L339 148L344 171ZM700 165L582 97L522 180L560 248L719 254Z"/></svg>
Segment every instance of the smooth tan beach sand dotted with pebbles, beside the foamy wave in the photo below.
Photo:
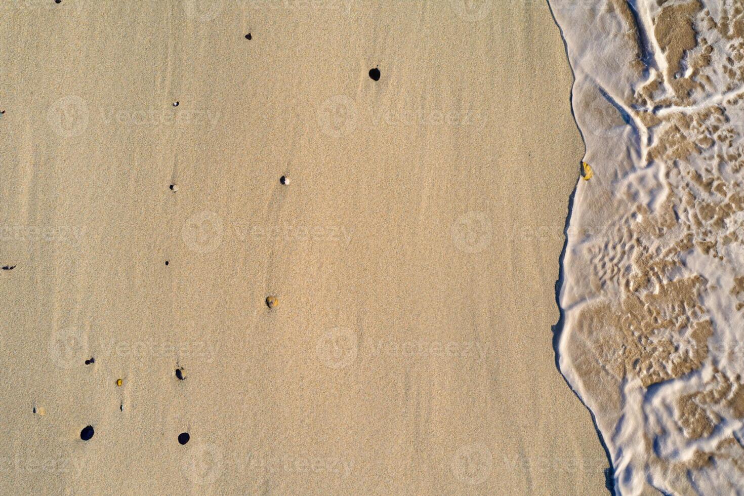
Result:
<svg viewBox="0 0 744 496"><path fill-rule="evenodd" d="M1 492L605 492L545 2L1 9Z"/></svg>

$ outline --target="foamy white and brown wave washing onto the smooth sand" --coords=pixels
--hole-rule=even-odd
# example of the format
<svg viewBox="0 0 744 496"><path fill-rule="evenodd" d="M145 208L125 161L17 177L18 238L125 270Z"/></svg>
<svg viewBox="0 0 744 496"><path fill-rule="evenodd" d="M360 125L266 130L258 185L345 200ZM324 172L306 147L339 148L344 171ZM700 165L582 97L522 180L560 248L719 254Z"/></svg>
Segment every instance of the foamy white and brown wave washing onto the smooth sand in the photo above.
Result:
<svg viewBox="0 0 744 496"><path fill-rule="evenodd" d="M744 5L551 0L594 177L559 364L622 494L744 491Z"/></svg>

